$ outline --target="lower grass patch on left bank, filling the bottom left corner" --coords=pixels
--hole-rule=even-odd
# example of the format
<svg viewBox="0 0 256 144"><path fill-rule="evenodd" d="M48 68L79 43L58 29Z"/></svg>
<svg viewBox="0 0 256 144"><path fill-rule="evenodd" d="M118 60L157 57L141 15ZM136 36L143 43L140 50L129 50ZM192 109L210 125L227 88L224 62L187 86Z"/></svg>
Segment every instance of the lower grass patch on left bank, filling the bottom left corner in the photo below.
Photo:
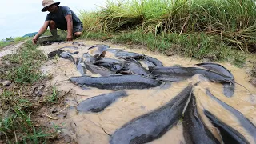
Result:
<svg viewBox="0 0 256 144"><path fill-rule="evenodd" d="M41 143L46 138L52 137L55 132L49 130L36 129L35 123L31 119L33 102L30 99L20 99L14 91L5 90L1 95L2 105L9 103L8 110L0 117L0 138L6 143L13 142L33 142ZM2 106L5 110L5 106Z"/></svg>

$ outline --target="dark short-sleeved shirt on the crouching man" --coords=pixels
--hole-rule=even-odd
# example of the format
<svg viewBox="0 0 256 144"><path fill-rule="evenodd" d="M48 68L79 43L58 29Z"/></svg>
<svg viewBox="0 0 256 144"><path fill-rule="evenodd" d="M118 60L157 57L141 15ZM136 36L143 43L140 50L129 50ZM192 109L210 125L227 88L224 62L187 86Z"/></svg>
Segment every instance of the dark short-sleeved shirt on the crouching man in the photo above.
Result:
<svg viewBox="0 0 256 144"><path fill-rule="evenodd" d="M68 6L58 6L58 11L56 13L49 13L46 16L46 21L53 20L57 28L62 30L67 30L67 23L66 23L66 15L72 15L73 26L81 25L80 19L77 17L76 14Z"/></svg>

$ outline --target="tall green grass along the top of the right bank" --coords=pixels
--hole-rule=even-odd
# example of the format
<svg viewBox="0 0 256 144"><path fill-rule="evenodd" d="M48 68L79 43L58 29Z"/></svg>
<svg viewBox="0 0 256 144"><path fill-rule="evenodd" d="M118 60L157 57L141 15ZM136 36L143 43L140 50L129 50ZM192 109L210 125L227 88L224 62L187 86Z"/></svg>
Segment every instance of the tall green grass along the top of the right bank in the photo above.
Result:
<svg viewBox="0 0 256 144"><path fill-rule="evenodd" d="M256 0L106 1L106 7L82 12L81 17L85 30L143 29L155 35L204 32L242 51L256 51Z"/></svg>

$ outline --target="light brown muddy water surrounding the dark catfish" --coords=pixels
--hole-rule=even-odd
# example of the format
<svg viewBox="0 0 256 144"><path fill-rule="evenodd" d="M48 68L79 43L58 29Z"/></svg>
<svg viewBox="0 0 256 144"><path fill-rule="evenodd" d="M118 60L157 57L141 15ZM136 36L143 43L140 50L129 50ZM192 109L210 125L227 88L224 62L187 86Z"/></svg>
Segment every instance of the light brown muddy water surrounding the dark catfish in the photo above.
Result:
<svg viewBox="0 0 256 144"><path fill-rule="evenodd" d="M89 46L94 44L99 44L102 42L83 42L86 46L78 46L78 50L73 49L64 49L69 50L70 52L79 51L79 54L74 55L74 58L82 57L82 54L87 52ZM178 56L166 57L162 54L155 54L149 52L145 49L133 49L130 50L125 46L111 45L110 43L102 43L111 46L111 48L122 48L126 51L133 51L136 53L150 55L154 58L158 58L164 66L194 66L198 63L197 61L181 58ZM42 46L39 49L42 50L45 54L50 53L53 50L57 50L63 46L74 46L71 43L66 44L54 44L51 46ZM93 50L89 51L93 53ZM113 54L107 53L106 57L113 57ZM206 95L205 88L210 88L210 92L214 94L217 98L221 99L223 102L226 102L230 106L233 106L235 109L239 110L250 119L251 122L256 125L256 90L248 81L250 76L242 69L238 69L235 66L231 66L229 63L219 63L222 66L225 66L231 73L234 75L235 81L240 83L243 86L246 86L252 94L245 90L242 86L236 85L236 90L234 91L234 97L226 98L222 94L222 85L218 83L208 82L203 80L200 76L196 75L194 78L191 78L184 82L172 83L170 87L168 86L158 86L146 90L126 90L128 97L120 98L114 104L108 106L101 113L78 113L75 107L78 103L82 102L86 98L94 97L98 94L110 93L111 90L98 90L96 88L90 88L90 90L82 90L80 87L75 86L74 84L66 81L68 78L73 76L80 76L74 63L69 60L62 58L54 58L46 62L42 66L42 72L45 74L50 74L53 76L53 79L49 82L49 85L57 86L58 90L69 91L71 94L69 97L66 97L66 104L70 106L69 112L65 119L54 121L58 125L62 125L62 131L65 134L70 135L71 138L74 138L78 143L99 143L104 144L109 142L110 136L105 134L102 128L108 134L113 134L115 130L120 128L122 125L126 124L133 118L136 118L142 114L149 113L151 110L158 108L159 106L165 105L166 102L174 98L179 92L181 92L190 82L198 82L198 86L194 86L194 95L197 98L198 111L203 121L206 123L206 126L214 133L214 135L220 139L218 135L218 130L214 128L202 113L203 109L209 110L212 114L218 116L222 122L227 123L229 126L238 130L242 135L244 135L250 143L255 143L250 134L246 132L239 124L238 120L234 117L233 114L217 102L211 99ZM98 76L95 75L94 76ZM182 122L178 122L177 126L174 126L161 138L154 140L154 144L158 143L185 143L182 135Z"/></svg>

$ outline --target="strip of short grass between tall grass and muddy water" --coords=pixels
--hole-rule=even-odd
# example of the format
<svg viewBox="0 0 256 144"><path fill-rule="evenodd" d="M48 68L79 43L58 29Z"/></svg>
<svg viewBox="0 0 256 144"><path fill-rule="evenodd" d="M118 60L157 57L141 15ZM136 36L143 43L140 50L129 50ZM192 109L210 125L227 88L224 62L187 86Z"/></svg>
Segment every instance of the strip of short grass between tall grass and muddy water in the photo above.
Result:
<svg viewBox="0 0 256 144"><path fill-rule="evenodd" d="M158 51L162 54L178 54L198 60L208 59L212 62L229 61L235 66L242 67L246 62L246 54L234 50L225 43L219 43L214 36L206 34L144 34L141 31L122 32L120 34L85 33L86 38L108 39L111 42L121 42L146 46L148 50Z"/></svg>

